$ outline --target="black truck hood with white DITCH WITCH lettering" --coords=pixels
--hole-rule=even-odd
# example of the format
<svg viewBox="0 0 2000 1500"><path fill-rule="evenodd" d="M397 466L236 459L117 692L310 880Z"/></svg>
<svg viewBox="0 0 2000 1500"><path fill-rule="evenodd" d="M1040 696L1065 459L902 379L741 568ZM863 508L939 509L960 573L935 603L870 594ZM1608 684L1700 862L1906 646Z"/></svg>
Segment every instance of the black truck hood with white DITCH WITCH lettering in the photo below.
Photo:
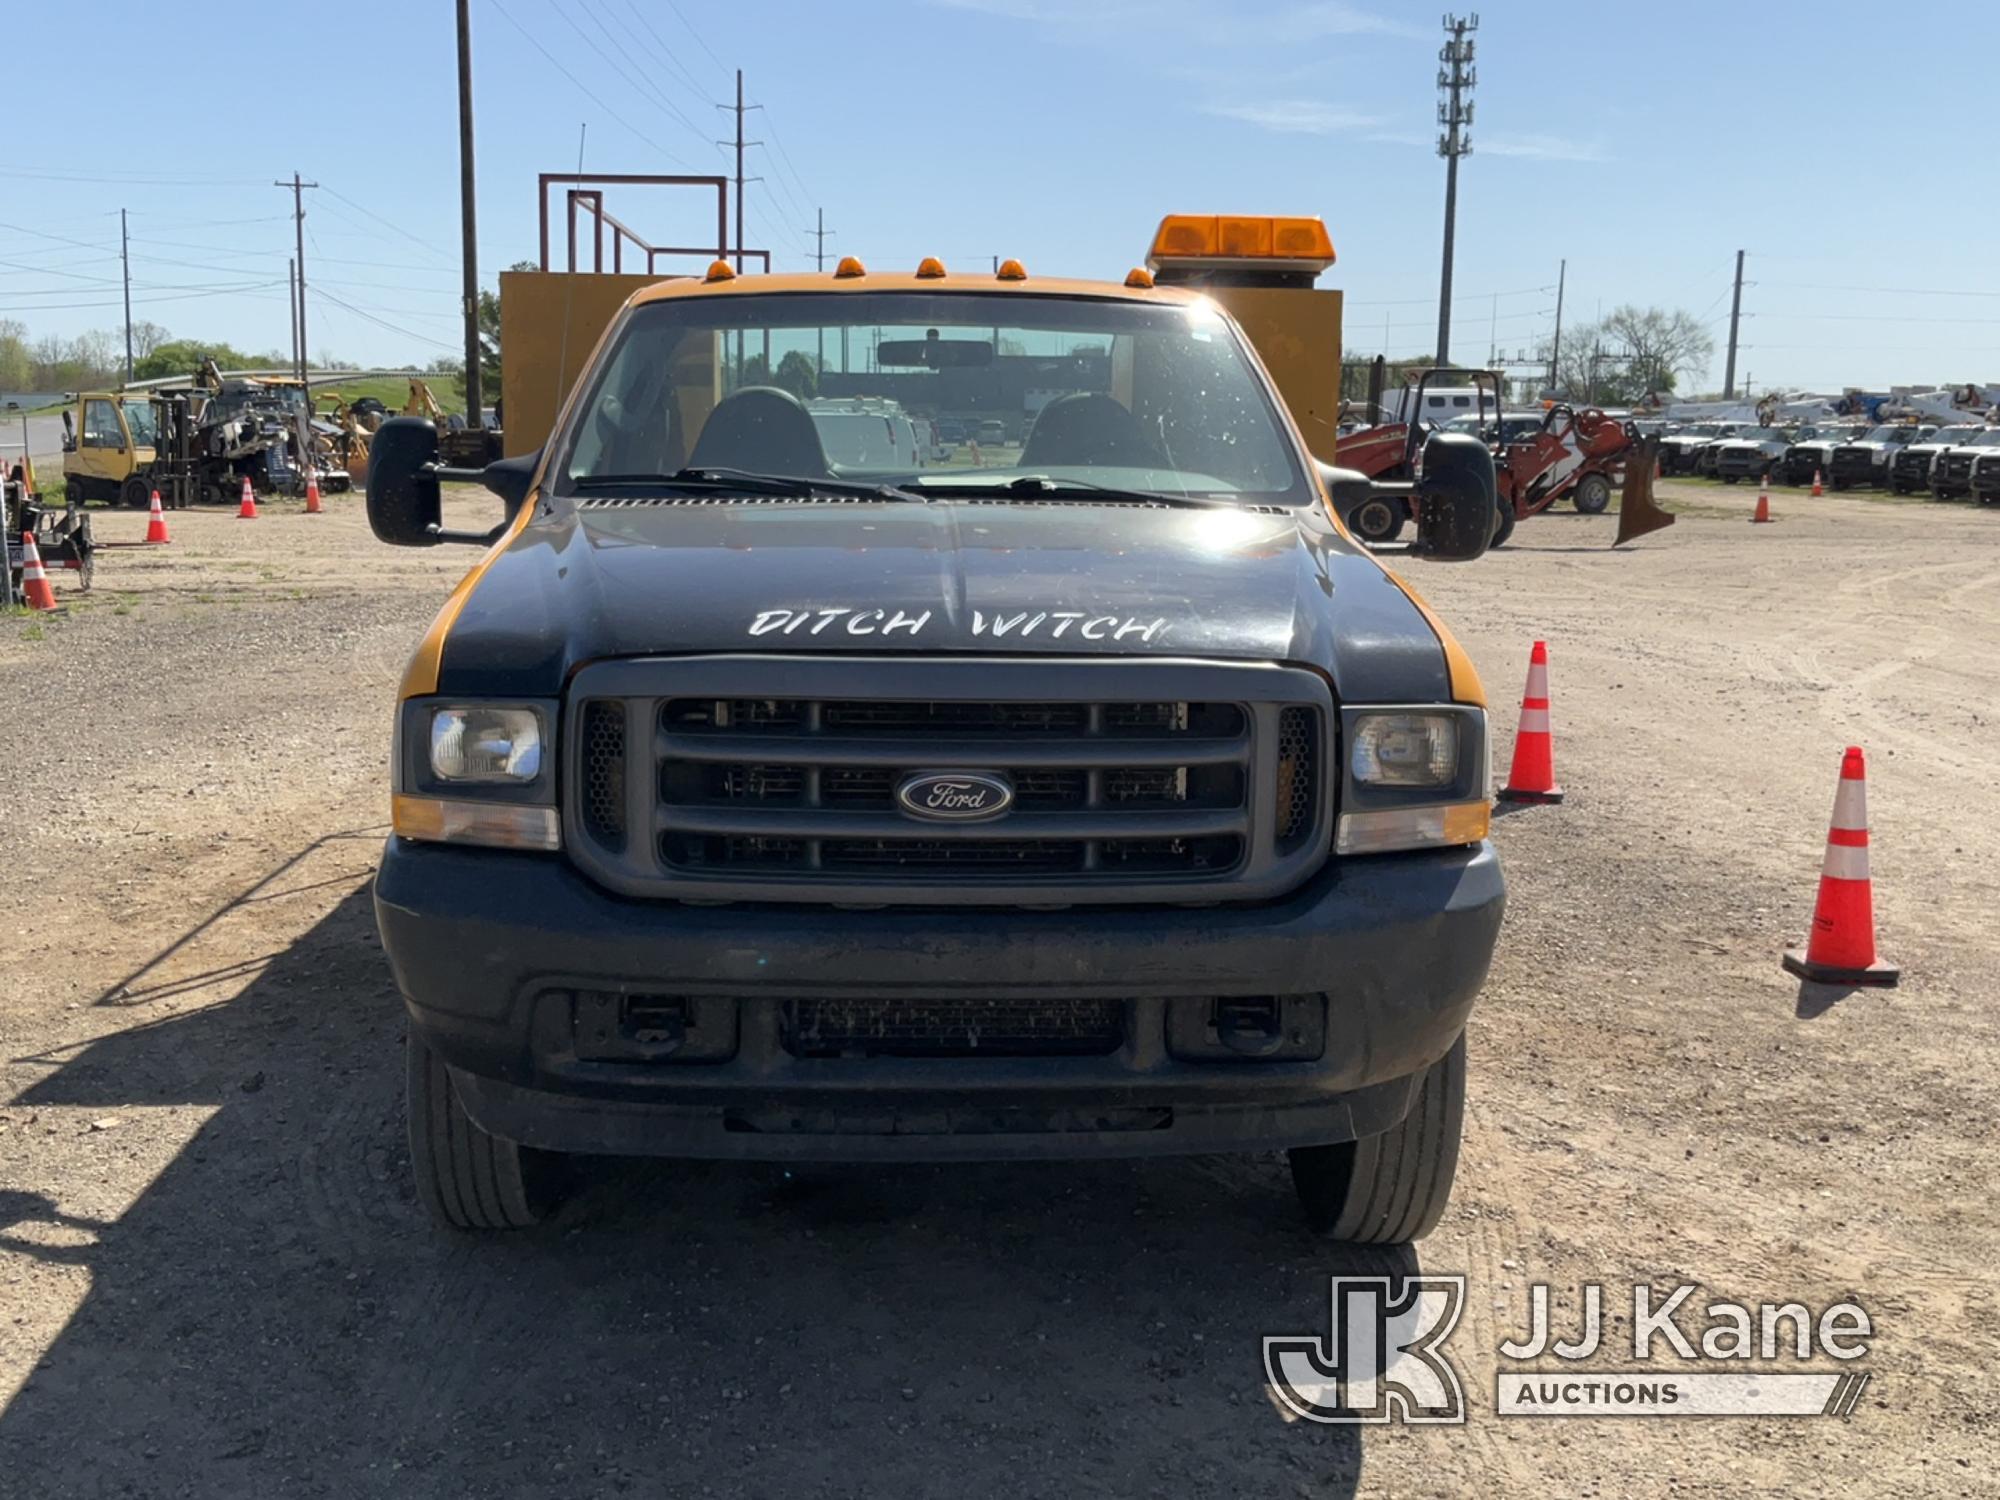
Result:
<svg viewBox="0 0 2000 1500"><path fill-rule="evenodd" d="M560 696L686 652L1302 662L1348 702L1446 702L1424 612L1312 508L558 500L494 554L440 692Z"/></svg>

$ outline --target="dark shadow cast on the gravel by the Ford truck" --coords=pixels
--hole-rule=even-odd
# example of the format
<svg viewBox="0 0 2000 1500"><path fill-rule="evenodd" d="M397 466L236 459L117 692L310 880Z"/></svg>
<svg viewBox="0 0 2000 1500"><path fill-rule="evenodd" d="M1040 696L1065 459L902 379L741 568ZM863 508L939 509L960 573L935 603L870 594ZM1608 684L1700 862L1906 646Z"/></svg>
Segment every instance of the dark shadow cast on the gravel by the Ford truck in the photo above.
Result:
<svg viewBox="0 0 2000 1500"><path fill-rule="evenodd" d="M1350 1494L1266 1334L1410 1254L1306 1234L1282 1158L586 1162L552 1226L444 1238L408 1188L402 1022L366 888L234 1000L18 1102L212 1110L116 1222L0 1412L22 1496ZM108 1132L110 1134L110 1132ZM22 1220L64 1220L50 1180ZM10 1250L44 1252L8 1238Z"/></svg>

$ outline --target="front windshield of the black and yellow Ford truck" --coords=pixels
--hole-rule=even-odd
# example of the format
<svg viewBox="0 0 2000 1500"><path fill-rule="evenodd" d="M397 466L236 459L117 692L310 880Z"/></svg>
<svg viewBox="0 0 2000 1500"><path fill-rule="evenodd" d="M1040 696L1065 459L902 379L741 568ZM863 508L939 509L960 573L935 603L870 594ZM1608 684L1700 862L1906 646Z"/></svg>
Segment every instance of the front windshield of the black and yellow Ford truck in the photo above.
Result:
<svg viewBox="0 0 2000 1500"><path fill-rule="evenodd" d="M950 436L946 436L950 434ZM1308 500L1292 436L1208 304L964 292L636 308L558 442L580 480L748 470L1004 488L1026 474Z"/></svg>

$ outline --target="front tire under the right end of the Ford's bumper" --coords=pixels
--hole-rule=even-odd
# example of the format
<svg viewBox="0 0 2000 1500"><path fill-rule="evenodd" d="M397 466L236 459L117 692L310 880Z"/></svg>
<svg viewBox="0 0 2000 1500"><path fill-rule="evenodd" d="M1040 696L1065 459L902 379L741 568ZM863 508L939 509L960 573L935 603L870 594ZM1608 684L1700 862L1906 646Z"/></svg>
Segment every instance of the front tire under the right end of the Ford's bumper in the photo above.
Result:
<svg viewBox="0 0 2000 1500"><path fill-rule="evenodd" d="M1444 1216L1466 1120L1466 1038L1430 1064L1416 1102L1380 1136L1302 1146L1292 1186L1314 1230L1348 1244L1422 1240Z"/></svg>

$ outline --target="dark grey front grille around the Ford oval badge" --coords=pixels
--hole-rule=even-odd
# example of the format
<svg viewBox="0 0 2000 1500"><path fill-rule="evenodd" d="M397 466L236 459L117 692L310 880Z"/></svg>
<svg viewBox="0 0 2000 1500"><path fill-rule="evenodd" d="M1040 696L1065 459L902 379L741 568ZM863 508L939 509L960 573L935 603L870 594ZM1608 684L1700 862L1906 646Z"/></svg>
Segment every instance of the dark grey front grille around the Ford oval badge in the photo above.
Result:
<svg viewBox="0 0 2000 1500"><path fill-rule="evenodd" d="M760 674L786 692L752 696ZM826 696L792 686L820 676ZM1316 676L1272 666L604 662L570 706L572 852L612 888L694 900L1258 894L1324 850L1328 710ZM1012 804L944 822L898 800L952 772L1006 780Z"/></svg>

